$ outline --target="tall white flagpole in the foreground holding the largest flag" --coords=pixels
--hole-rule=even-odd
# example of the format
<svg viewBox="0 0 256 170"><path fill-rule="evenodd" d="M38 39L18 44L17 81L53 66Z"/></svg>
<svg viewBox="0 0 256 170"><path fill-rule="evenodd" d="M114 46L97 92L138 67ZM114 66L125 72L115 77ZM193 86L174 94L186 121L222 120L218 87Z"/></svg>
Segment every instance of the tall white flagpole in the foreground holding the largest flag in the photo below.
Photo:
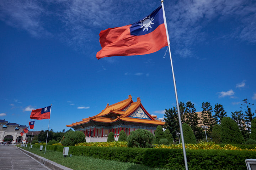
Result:
<svg viewBox="0 0 256 170"><path fill-rule="evenodd" d="M171 60L171 67L172 67L172 78L173 78L173 81L174 81L174 90L175 90L175 97L176 97L176 104L177 104L177 111L178 111L178 119L179 119L179 124L180 124L183 156L184 156L185 168L186 168L186 170L188 170L187 155L186 155L185 142L184 142L183 130L182 130L182 124L181 124L180 107L179 107L179 104L178 104L178 95L177 95L176 82L175 82L175 77L174 77L174 69L173 69L173 66L172 66L170 40L169 40L169 34L168 34L168 30L167 30L165 11L164 11L164 0L161 0L161 4L162 4L163 16L164 16L164 24L165 24L165 31L166 31L166 36L167 36L168 48L169 48L169 53L170 53L170 60Z"/></svg>

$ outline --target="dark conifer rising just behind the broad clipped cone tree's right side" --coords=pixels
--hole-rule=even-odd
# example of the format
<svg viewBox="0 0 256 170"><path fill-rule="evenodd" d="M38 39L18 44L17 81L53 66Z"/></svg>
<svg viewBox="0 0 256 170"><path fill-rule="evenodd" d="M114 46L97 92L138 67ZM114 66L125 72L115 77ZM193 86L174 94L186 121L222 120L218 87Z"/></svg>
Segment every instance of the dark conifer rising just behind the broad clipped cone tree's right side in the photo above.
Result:
<svg viewBox="0 0 256 170"><path fill-rule="evenodd" d="M235 123L238 125L238 128L240 129L243 137L246 139L249 138L249 132L245 129L245 119L242 111L231 112L231 116Z"/></svg>

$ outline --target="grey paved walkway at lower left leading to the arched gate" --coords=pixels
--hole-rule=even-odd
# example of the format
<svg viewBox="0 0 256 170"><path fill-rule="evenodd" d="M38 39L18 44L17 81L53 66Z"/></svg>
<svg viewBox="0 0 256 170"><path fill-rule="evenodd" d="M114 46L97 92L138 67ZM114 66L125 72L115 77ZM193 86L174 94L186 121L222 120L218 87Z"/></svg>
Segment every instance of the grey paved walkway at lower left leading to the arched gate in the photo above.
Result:
<svg viewBox="0 0 256 170"><path fill-rule="evenodd" d="M52 170L19 151L15 146L0 145L1 170Z"/></svg>

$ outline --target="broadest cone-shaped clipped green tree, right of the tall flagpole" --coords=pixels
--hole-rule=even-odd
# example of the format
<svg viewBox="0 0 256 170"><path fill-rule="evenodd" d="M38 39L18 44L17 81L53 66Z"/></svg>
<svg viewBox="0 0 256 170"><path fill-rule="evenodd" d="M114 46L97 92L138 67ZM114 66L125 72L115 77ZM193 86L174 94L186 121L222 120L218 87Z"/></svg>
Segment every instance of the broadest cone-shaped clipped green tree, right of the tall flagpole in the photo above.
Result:
<svg viewBox="0 0 256 170"><path fill-rule="evenodd" d="M224 117L221 121L221 139L222 143L242 144L245 143L244 137L238 125L230 117Z"/></svg>

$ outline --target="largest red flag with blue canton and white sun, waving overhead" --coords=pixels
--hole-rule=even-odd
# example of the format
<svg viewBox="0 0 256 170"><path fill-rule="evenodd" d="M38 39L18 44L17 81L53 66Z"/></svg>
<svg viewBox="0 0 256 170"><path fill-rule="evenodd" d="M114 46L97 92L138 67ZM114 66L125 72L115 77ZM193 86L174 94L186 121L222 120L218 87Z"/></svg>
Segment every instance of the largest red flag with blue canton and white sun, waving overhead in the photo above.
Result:
<svg viewBox="0 0 256 170"><path fill-rule="evenodd" d="M144 55L167 46L162 6L138 22L101 31L100 44L102 49L97 52L98 59Z"/></svg>

